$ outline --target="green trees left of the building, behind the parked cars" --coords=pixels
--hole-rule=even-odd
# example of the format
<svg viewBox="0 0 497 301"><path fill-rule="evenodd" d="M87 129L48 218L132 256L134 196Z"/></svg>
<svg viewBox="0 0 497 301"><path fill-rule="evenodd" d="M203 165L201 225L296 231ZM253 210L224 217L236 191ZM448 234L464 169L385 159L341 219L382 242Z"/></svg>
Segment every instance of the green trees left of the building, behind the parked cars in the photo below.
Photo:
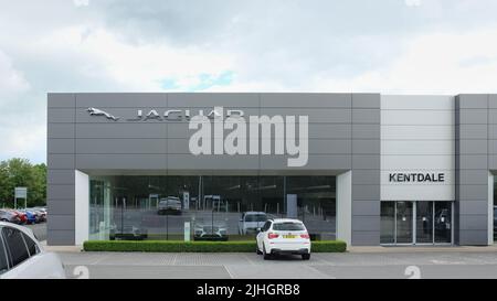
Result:
<svg viewBox="0 0 497 301"><path fill-rule="evenodd" d="M46 204L46 165L13 158L0 162L0 203L14 205L14 187L28 187L28 206ZM23 206L23 204L18 204Z"/></svg>

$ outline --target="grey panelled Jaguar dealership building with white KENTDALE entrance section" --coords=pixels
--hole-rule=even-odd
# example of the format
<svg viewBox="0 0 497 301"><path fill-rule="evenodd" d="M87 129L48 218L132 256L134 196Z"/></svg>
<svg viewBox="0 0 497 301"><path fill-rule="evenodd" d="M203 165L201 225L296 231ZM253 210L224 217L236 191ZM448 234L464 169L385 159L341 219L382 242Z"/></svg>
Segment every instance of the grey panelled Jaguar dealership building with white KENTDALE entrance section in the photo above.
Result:
<svg viewBox="0 0 497 301"><path fill-rule="evenodd" d="M494 244L497 95L47 95L49 245Z"/></svg>

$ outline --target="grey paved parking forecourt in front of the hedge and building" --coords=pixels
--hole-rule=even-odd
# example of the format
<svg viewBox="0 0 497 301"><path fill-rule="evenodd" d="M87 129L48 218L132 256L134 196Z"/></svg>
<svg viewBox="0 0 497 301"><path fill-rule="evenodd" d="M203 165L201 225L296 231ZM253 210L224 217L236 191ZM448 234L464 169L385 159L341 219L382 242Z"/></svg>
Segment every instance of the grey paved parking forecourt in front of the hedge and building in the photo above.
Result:
<svg viewBox="0 0 497 301"><path fill-rule="evenodd" d="M497 278L497 252L255 254L59 252L70 278L405 279Z"/></svg>

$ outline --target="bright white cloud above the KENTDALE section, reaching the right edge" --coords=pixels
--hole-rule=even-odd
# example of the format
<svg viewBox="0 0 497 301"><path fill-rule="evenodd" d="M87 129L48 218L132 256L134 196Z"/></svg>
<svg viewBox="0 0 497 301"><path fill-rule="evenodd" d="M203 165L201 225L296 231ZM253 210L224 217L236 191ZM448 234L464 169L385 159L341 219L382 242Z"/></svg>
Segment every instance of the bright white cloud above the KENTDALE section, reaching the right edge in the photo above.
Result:
<svg viewBox="0 0 497 301"><path fill-rule="evenodd" d="M401 94L496 93L497 29L433 33L405 43L405 50L382 68L350 78L317 76L318 90Z"/></svg>

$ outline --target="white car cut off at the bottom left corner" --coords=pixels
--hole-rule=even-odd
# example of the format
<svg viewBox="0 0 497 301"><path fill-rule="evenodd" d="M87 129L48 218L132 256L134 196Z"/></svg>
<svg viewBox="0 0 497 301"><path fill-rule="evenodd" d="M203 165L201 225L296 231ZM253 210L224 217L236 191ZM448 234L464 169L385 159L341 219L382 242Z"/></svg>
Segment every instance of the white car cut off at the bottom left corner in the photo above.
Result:
<svg viewBox="0 0 497 301"><path fill-rule="evenodd" d="M64 279L61 259L27 227L0 222L0 279Z"/></svg>

